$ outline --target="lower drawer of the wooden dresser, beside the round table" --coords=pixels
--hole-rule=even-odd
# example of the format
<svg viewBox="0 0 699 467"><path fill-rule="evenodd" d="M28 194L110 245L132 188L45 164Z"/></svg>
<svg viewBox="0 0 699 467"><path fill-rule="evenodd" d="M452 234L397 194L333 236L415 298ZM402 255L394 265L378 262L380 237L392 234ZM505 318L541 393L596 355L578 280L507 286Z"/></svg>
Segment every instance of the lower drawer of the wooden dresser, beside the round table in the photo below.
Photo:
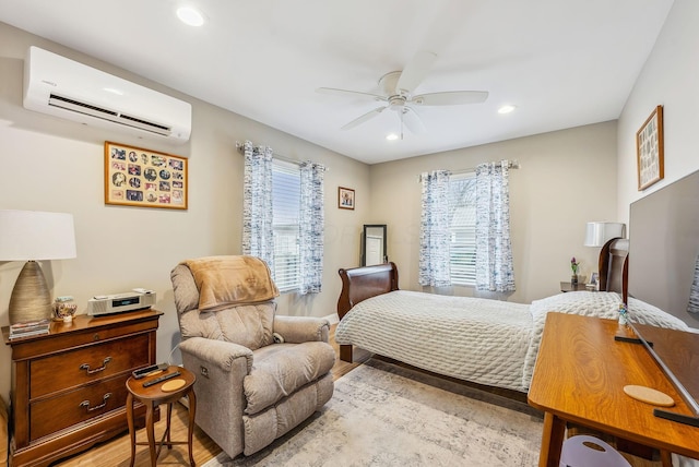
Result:
<svg viewBox="0 0 699 467"><path fill-rule="evenodd" d="M31 441L123 408L127 400L128 379L129 374L125 374L29 404Z"/></svg>

